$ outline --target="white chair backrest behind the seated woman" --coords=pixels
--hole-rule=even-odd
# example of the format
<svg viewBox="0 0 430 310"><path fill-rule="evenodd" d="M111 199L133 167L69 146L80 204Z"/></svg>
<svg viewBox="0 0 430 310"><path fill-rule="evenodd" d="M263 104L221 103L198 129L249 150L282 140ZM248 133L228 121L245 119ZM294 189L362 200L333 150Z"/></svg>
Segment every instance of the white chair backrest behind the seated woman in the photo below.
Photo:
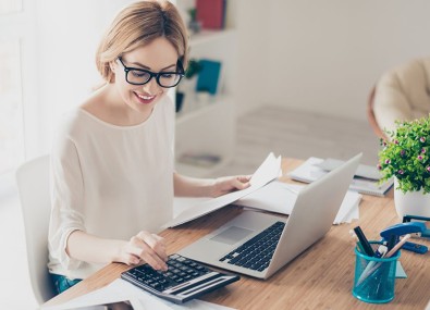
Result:
<svg viewBox="0 0 430 310"><path fill-rule="evenodd" d="M54 296L49 277L48 228L51 212L49 156L24 163L16 171L16 183L24 218L28 271L39 305Z"/></svg>

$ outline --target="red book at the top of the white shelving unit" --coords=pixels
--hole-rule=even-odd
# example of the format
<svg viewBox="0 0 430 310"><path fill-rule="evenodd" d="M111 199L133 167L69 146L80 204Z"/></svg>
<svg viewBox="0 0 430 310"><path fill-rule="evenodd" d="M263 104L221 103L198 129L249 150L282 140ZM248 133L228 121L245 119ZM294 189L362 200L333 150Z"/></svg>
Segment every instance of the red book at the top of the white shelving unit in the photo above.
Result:
<svg viewBox="0 0 430 310"><path fill-rule="evenodd" d="M196 0L197 21L204 29L222 29L226 0Z"/></svg>

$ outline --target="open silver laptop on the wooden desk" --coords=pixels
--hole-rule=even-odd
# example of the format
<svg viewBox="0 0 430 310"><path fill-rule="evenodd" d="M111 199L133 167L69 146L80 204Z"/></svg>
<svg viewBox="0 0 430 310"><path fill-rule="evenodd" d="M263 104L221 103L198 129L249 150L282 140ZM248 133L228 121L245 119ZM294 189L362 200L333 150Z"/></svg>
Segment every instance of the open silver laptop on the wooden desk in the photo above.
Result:
<svg viewBox="0 0 430 310"><path fill-rule="evenodd" d="M244 211L179 253L236 273L270 277L330 231L361 156L304 187L287 219Z"/></svg>

